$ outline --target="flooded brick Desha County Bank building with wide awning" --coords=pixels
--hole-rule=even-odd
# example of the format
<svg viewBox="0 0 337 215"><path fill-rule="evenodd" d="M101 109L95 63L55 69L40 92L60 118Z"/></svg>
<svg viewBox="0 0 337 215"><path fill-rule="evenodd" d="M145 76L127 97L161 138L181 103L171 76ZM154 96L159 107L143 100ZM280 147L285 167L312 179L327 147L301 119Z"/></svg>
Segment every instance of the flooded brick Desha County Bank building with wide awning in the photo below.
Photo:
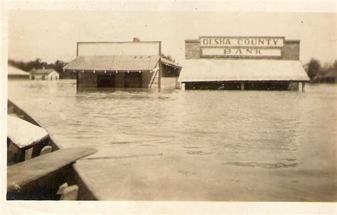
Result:
<svg viewBox="0 0 337 215"><path fill-rule="evenodd" d="M304 90L308 75L298 40L284 37L200 36L186 40L179 81L186 90Z"/></svg>

